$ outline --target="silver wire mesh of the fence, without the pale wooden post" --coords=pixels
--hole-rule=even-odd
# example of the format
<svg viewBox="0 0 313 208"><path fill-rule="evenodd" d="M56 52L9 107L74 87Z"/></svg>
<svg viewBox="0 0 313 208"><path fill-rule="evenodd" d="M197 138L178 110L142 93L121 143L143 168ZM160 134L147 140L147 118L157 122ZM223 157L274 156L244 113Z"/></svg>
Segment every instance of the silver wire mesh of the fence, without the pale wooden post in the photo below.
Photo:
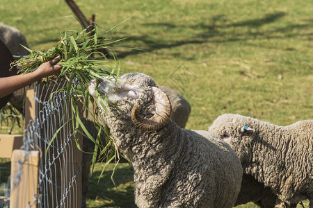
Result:
<svg viewBox="0 0 313 208"><path fill-rule="evenodd" d="M75 80L76 86L77 82L78 80ZM73 139L72 123L68 122L71 119L71 106L66 103L65 90L55 92L65 85L66 82L57 81L49 86L35 87L35 119L30 121L24 131L22 149L26 150L26 153L31 150L40 151L38 194L33 196L32 202L21 207L29 207L35 203L38 207L53 208L81 206L77 202L81 195L81 183L77 180L82 162L73 162L77 157L74 155L74 149L77 147ZM28 157L29 154L26 154L24 159L19 161L21 171L18 171L15 178L11 178L13 189L18 186L22 174L25 174L22 173L22 164Z"/></svg>

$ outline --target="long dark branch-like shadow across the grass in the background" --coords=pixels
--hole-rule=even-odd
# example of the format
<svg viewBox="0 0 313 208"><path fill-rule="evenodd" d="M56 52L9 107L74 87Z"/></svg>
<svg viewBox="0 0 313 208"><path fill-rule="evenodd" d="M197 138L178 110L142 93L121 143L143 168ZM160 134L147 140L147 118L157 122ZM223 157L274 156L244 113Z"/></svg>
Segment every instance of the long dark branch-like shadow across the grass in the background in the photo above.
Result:
<svg viewBox="0 0 313 208"><path fill-rule="evenodd" d="M156 28L160 29L166 28L166 31L168 31L168 33L171 33L170 31L175 30L176 28L184 30L192 28L193 31L195 31L195 33L197 31L201 31L201 33L195 34L193 35L193 37L188 37L188 40L178 40L178 41L156 40L150 35L129 37L129 40L131 41L142 42L147 46L147 49L145 49L144 51L136 50L122 51L118 53L118 57L125 58L127 55L151 52L159 49L170 49L173 47L182 46L186 44L202 44L205 42L213 43L236 42L255 39L276 39L284 37L303 37L303 36L309 37L312 35L310 33L289 33L295 28L304 30L306 28L312 27L313 23L311 21L307 21L307 24L290 24L282 27L275 26L273 28L268 28L266 31L264 31L264 29L262 30L258 29L261 26L278 21L278 19L284 17L285 15L287 15L285 12L273 12L264 15L264 17L262 18L239 21L232 24L223 24L223 22L227 21L227 17L225 15L217 15L212 17L209 24L204 24L203 22L198 22L193 25L177 25L168 22L143 24L144 27L152 26L154 30L156 30ZM234 27L248 27L248 29L242 30L243 32L233 30L232 33L230 33L230 31L225 31L227 28Z"/></svg>

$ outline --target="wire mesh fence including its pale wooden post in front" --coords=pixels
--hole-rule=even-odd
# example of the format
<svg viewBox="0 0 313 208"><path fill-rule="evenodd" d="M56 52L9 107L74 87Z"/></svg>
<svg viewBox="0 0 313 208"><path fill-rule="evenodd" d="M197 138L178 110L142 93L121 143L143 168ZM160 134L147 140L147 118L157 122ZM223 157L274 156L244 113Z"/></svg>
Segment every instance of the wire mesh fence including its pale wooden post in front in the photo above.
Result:
<svg viewBox="0 0 313 208"><path fill-rule="evenodd" d="M22 148L13 152L10 207L81 206L82 158L73 139L71 104L62 89L66 85L66 80L56 80L35 86L29 102L33 119Z"/></svg>

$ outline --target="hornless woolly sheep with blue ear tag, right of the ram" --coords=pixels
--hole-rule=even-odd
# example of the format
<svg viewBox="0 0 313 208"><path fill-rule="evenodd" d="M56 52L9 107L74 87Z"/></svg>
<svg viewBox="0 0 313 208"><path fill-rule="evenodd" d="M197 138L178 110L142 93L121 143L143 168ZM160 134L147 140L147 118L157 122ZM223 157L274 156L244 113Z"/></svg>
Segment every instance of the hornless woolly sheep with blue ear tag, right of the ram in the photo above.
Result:
<svg viewBox="0 0 313 208"><path fill-rule="evenodd" d="M271 187L290 207L308 198L313 208L313 120L287 126L248 116L223 114L209 127L234 149L243 173Z"/></svg>

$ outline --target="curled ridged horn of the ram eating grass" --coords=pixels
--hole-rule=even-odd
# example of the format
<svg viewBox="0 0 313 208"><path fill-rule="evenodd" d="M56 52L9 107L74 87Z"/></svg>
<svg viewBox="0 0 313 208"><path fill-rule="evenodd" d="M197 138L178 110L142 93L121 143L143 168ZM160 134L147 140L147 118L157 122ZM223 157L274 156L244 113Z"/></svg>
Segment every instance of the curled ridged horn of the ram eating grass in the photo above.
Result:
<svg viewBox="0 0 313 208"><path fill-rule="evenodd" d="M138 111L138 103L135 103L131 110L131 120L138 128L147 131L154 131L162 128L170 120L172 106L168 96L157 87L152 87L153 101L155 104L155 114L149 118L143 118Z"/></svg>

